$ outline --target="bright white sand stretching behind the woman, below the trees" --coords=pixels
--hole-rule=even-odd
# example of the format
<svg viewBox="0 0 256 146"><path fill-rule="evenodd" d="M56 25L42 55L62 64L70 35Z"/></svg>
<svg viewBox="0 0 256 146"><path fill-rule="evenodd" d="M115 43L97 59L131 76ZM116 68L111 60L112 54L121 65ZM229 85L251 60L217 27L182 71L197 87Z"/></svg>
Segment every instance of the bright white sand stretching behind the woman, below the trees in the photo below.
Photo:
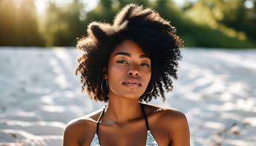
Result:
<svg viewBox="0 0 256 146"><path fill-rule="evenodd" d="M62 145L65 124L101 108L80 92L74 48L0 48L0 145ZM183 49L166 102L191 145L256 145L256 50Z"/></svg>

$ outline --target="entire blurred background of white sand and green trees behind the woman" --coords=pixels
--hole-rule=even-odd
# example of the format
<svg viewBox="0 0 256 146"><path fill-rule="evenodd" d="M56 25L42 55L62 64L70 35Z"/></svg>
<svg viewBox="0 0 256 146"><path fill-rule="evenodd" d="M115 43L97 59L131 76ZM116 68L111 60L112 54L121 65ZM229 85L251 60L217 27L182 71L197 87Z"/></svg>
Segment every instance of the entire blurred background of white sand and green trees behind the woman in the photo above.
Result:
<svg viewBox="0 0 256 146"><path fill-rule="evenodd" d="M174 90L151 103L185 113L191 146L255 146L256 0L0 0L0 145L62 145L66 123L105 105L80 92L74 49L130 2L186 48Z"/></svg>

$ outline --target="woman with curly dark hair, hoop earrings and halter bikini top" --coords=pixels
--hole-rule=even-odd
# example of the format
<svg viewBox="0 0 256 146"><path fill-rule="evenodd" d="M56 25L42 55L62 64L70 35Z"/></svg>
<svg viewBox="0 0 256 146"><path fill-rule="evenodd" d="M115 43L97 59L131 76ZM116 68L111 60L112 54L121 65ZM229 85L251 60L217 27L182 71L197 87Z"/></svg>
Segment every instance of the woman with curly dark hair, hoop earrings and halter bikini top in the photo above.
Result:
<svg viewBox="0 0 256 146"><path fill-rule="evenodd" d="M152 9L126 5L113 25L93 22L77 47L82 91L102 109L68 123L63 145L190 145L186 117L177 109L141 102L171 91L182 40Z"/></svg>

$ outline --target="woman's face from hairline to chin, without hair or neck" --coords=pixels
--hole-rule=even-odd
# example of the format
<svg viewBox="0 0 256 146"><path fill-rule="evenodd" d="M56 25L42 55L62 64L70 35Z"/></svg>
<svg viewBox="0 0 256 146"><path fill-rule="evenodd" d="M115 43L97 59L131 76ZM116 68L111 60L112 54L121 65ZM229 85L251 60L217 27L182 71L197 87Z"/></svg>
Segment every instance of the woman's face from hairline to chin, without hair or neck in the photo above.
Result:
<svg viewBox="0 0 256 146"><path fill-rule="evenodd" d="M107 66L108 96L138 99L151 79L151 60L133 41L123 41L110 54Z"/></svg>

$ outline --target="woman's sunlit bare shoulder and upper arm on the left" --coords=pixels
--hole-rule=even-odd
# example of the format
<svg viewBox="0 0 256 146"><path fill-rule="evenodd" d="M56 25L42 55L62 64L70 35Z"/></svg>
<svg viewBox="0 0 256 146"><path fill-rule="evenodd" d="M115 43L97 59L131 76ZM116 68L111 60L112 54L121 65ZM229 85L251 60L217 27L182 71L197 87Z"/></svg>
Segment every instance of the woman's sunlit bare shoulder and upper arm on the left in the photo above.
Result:
<svg viewBox="0 0 256 146"><path fill-rule="evenodd" d="M68 122L63 134L63 145L80 145L86 138L92 139L100 113L101 109Z"/></svg>

